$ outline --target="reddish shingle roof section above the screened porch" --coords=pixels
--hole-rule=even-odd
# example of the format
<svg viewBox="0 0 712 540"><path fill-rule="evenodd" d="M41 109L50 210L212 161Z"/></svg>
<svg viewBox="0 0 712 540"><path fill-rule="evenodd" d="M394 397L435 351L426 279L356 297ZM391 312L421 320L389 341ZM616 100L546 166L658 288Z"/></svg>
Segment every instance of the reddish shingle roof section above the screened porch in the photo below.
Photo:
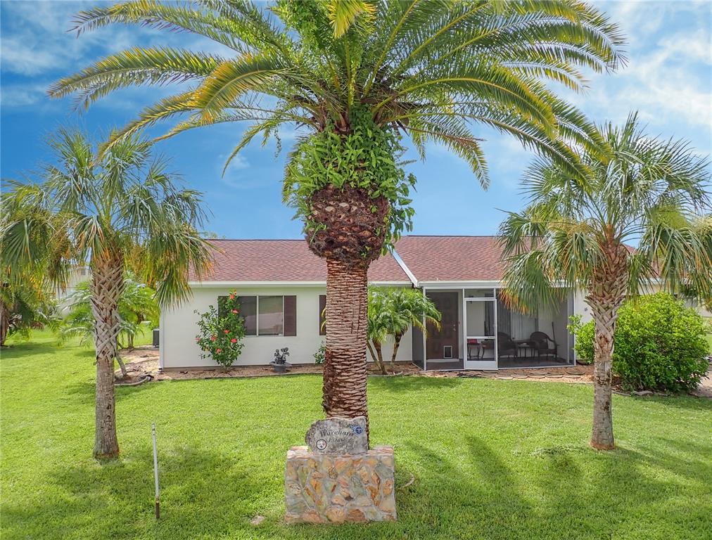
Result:
<svg viewBox="0 0 712 540"><path fill-rule="evenodd" d="M502 250L495 236L404 236L396 253L418 281L502 278Z"/></svg>

